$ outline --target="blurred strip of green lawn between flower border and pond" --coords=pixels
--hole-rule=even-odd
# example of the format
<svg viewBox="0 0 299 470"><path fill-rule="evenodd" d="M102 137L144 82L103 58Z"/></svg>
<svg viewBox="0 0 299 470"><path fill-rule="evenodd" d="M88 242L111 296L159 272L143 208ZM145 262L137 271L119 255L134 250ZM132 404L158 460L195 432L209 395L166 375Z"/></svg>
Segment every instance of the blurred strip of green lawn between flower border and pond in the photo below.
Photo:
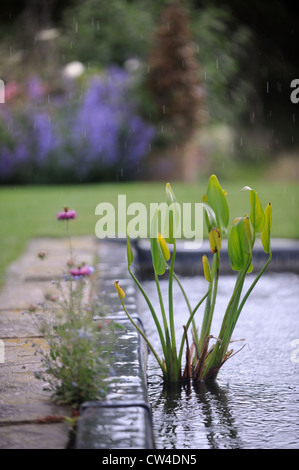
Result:
<svg viewBox="0 0 299 470"><path fill-rule="evenodd" d="M238 181L221 181L228 192L231 220L249 210L248 192L240 192L244 185L255 189L263 207L270 201L273 206L273 237L299 238L297 218L299 187L296 182L263 181L252 175ZM207 180L198 184L171 183L178 202L201 202ZM56 220L56 213L68 205L78 212L72 221L73 235L93 235L99 216L95 208L101 202L117 207L118 194L131 202L162 202L165 184L115 183L76 186L25 186L0 188L0 285L5 268L24 250L31 237L65 235L65 224Z"/></svg>

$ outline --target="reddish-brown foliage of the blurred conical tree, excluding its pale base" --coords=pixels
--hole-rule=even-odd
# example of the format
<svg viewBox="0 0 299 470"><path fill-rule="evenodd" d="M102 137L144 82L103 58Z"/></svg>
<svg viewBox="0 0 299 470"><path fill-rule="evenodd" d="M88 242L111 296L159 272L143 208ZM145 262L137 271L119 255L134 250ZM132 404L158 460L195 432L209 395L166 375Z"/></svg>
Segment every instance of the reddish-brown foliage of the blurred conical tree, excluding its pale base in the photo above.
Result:
<svg viewBox="0 0 299 470"><path fill-rule="evenodd" d="M149 54L146 85L166 140L188 140L202 122L203 88L187 11L178 1L162 13Z"/></svg>

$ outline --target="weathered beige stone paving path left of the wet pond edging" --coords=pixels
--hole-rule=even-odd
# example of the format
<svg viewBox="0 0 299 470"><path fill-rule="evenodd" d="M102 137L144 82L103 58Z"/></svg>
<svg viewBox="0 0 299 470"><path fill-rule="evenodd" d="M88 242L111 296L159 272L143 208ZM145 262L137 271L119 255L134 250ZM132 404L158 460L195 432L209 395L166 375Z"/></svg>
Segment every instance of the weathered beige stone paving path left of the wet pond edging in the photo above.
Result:
<svg viewBox="0 0 299 470"><path fill-rule="evenodd" d="M98 246L94 237L74 237L72 246L76 261L93 264ZM37 256L40 250L47 252L43 261ZM53 405L44 383L34 377L40 358L31 340L46 345L33 320L22 313L45 295L57 294L51 280L61 277L68 259L67 239L34 239L7 271L0 291L0 449L68 445L69 430L61 417L70 416L71 410Z"/></svg>

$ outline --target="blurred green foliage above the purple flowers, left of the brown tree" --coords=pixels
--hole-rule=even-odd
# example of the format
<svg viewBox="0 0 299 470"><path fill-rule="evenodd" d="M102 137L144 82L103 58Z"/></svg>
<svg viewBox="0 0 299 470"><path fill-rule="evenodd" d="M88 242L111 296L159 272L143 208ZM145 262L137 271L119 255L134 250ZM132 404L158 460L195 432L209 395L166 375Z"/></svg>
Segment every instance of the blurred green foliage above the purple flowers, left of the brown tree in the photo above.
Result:
<svg viewBox="0 0 299 470"><path fill-rule="evenodd" d="M76 1L64 12L59 40L66 61L84 64L123 65L135 57L144 57L154 18L148 0Z"/></svg>

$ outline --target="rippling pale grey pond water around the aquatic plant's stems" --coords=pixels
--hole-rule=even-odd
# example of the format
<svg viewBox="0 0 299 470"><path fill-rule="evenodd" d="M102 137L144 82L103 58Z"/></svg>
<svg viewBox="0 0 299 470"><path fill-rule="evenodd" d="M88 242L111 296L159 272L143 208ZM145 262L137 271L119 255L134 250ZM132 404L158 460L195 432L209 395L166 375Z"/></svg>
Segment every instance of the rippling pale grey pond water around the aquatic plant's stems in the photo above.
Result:
<svg viewBox="0 0 299 470"><path fill-rule="evenodd" d="M249 285L250 276L245 284ZM191 305L204 294L203 278L182 278ZM214 323L217 336L235 282L219 282ZM143 283L156 305L153 281ZM177 342L188 314L174 284ZM161 282L167 299L168 282ZM142 320L151 342L158 335L146 304ZM166 302L167 303L167 302ZM159 308L157 307L157 311ZM201 324L203 307L197 312ZM148 392L157 449L291 449L299 448L299 276L266 274L254 288L233 335L235 351L213 385L163 390L160 369L148 357Z"/></svg>

